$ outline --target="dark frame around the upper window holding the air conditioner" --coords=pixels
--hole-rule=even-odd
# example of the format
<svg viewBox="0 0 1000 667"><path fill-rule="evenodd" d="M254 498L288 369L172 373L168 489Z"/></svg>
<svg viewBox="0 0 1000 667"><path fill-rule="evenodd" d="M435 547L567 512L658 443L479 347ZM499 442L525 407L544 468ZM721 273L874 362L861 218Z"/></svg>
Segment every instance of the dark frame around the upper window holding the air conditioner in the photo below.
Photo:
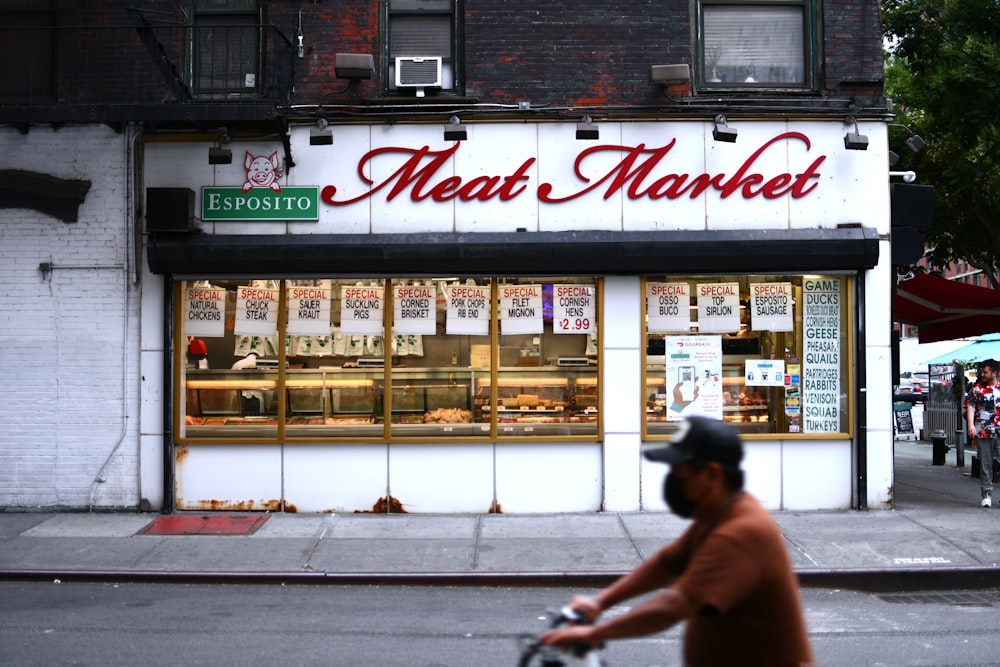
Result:
<svg viewBox="0 0 1000 667"><path fill-rule="evenodd" d="M398 1L398 0L397 0ZM407 0L403 0L406 2ZM415 0L419 1L419 0ZM444 1L444 0L442 0ZM391 33L391 21L392 17L395 15L406 16L406 15L419 15L419 14L436 14L436 15L450 15L450 25L451 25L451 48L449 54L436 54L427 53L422 55L427 56L438 56L444 59L442 62L442 83L444 83L444 67L447 63L451 64L452 69L452 81L451 87L441 88L430 88L427 90L427 97L435 96L461 96L465 91L465 28L463 17L465 15L465 0L446 0L451 6L446 12L444 10L428 10L421 11L416 9L394 9L393 0L380 0L379 2L379 51L381 54L381 65L379 68L381 74L381 94L382 95L392 95L392 96L409 96L409 88L396 88L395 77L393 73L395 71L395 61L392 57L392 44L390 43L390 33ZM415 54L414 54L415 55ZM416 98L416 96L414 96Z"/></svg>

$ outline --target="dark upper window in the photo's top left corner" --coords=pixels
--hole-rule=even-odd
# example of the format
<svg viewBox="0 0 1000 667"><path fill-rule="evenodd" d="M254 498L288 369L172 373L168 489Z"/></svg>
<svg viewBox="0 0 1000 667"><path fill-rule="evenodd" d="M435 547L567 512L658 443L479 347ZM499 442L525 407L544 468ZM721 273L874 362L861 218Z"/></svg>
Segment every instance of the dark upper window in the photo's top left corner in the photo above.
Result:
<svg viewBox="0 0 1000 667"><path fill-rule="evenodd" d="M0 9L0 97L7 103L55 98L55 10L51 0L7 0Z"/></svg>

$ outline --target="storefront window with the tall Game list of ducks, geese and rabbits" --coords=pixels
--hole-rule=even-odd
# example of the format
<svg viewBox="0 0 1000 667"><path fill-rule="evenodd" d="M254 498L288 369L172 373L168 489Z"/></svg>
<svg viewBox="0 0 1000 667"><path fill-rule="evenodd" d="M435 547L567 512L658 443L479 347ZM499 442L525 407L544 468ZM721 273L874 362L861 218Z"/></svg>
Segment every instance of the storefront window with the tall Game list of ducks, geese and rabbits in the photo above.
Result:
<svg viewBox="0 0 1000 667"><path fill-rule="evenodd" d="M744 434L847 433L850 280L839 275L645 281L645 435L704 414Z"/></svg>

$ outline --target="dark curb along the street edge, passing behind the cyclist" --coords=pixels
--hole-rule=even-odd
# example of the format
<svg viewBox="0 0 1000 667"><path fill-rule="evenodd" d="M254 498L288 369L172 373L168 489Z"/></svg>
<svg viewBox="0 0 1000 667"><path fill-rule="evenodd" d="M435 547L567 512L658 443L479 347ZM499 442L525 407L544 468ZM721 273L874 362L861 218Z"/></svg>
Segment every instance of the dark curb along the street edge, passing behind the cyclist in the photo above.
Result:
<svg viewBox="0 0 1000 667"><path fill-rule="evenodd" d="M598 572L191 572L149 570L0 570L0 581L148 584L295 584L332 586L522 586L601 588L625 574ZM800 570L803 588L870 593L1000 588L1000 568Z"/></svg>

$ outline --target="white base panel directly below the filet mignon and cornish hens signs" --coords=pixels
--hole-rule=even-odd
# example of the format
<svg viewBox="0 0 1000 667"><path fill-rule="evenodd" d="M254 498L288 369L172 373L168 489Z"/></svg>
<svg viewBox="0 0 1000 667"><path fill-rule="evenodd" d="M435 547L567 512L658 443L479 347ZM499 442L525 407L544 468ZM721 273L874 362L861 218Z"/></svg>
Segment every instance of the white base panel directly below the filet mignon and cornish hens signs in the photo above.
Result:
<svg viewBox="0 0 1000 667"><path fill-rule="evenodd" d="M601 511L602 445L497 444L496 486L509 514Z"/></svg>

